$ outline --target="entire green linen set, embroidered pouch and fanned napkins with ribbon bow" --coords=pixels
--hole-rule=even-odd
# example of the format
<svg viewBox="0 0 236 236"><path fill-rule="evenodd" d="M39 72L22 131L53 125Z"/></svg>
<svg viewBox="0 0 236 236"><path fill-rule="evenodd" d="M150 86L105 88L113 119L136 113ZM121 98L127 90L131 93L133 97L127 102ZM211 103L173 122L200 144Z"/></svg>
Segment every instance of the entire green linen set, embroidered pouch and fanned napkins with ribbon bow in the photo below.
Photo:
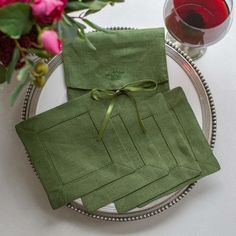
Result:
<svg viewBox="0 0 236 236"><path fill-rule="evenodd" d="M181 88L164 30L88 33L63 47L69 102L16 130L53 208L125 213L220 169Z"/></svg>

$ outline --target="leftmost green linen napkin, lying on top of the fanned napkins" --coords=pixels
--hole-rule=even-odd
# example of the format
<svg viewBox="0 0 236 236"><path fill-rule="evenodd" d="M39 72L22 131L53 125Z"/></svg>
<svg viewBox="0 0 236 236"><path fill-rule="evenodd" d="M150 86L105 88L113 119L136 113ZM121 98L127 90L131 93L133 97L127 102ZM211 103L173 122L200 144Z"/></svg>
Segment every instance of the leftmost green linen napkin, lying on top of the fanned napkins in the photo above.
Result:
<svg viewBox="0 0 236 236"><path fill-rule="evenodd" d="M125 125L119 117L98 141L105 112L102 102L86 94L16 126L53 208L141 169L145 155L156 156L156 167L147 167L155 178L168 173L151 144L140 153L127 151L131 137L116 134Z"/></svg>

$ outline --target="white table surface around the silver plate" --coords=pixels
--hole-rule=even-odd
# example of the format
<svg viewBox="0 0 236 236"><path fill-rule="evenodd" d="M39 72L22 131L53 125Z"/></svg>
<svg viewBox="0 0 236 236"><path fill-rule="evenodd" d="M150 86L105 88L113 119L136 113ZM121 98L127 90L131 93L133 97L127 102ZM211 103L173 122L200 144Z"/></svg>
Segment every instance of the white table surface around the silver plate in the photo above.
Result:
<svg viewBox="0 0 236 236"><path fill-rule="evenodd" d="M126 0L92 17L102 26L163 26L164 0ZM236 22L230 32L196 62L210 85L217 109L214 153L222 170L197 184L191 193L161 215L131 223L102 222L66 207L52 210L32 172L14 126L20 121L24 95L13 108L0 100L0 235L236 235ZM55 84L55 89L56 89Z"/></svg>

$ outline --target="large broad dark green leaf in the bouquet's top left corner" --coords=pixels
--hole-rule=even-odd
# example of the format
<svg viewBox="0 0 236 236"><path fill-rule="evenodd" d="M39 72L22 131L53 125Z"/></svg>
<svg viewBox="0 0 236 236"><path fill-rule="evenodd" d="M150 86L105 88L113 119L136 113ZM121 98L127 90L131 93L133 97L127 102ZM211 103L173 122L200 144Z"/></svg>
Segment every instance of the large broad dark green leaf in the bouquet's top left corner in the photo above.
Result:
<svg viewBox="0 0 236 236"><path fill-rule="evenodd" d="M30 31L33 25L31 6L15 3L0 8L0 31L11 38L18 39Z"/></svg>

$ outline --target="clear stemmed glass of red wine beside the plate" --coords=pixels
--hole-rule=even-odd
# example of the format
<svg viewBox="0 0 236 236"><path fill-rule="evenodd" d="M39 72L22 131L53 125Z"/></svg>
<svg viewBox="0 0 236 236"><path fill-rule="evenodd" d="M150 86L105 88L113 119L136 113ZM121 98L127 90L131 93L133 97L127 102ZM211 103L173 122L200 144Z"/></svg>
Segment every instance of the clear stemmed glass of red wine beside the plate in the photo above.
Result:
<svg viewBox="0 0 236 236"><path fill-rule="evenodd" d="M225 36L232 11L233 0L166 0L167 39L196 60Z"/></svg>

